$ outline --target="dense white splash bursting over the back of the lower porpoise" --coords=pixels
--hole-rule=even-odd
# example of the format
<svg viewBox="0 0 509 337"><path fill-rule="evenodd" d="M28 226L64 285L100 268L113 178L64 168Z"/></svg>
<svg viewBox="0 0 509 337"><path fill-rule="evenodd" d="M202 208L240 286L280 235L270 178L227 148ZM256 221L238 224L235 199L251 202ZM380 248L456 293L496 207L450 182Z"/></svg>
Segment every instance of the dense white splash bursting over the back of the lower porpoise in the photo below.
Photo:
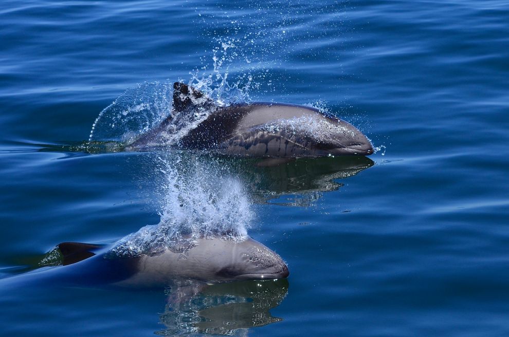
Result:
<svg viewBox="0 0 509 337"><path fill-rule="evenodd" d="M247 238L253 212L239 179L223 172L213 161L180 160L175 153L161 154L157 160L161 220L120 239L112 250L114 254L181 252L194 247L201 237L235 241Z"/></svg>

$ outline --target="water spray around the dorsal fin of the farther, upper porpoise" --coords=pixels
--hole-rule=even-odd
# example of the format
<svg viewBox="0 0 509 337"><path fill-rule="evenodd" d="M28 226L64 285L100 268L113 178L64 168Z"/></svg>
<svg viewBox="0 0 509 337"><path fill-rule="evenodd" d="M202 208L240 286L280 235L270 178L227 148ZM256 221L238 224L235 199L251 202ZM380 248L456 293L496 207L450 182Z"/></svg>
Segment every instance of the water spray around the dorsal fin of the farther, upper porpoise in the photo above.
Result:
<svg viewBox="0 0 509 337"><path fill-rule="evenodd" d="M248 102L252 77L249 73L242 73L229 78L228 64L236 55L233 51L235 45L231 41L221 45L221 48L214 49L213 71L194 70L190 72L187 84L204 92L215 106ZM172 120L166 133L160 135L156 144L148 146L171 146L213 113L213 109L207 106L181 113L172 111L172 98L171 81L146 82L126 90L95 120L88 139L89 151L121 151L170 115Z"/></svg>

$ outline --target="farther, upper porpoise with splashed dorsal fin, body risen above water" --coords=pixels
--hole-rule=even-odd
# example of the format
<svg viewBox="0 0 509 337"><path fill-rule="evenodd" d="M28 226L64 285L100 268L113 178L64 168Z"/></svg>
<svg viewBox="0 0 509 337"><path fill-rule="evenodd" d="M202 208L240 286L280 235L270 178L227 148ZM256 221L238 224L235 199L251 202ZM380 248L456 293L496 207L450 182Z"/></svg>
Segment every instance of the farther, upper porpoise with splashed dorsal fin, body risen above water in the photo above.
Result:
<svg viewBox="0 0 509 337"><path fill-rule="evenodd" d="M175 82L173 88L170 116L127 144L127 151L165 145L180 133L178 148L222 155L301 158L373 153L371 142L355 126L313 107L267 102L223 107L192 86ZM190 114L206 117L195 127L179 129L177 117Z"/></svg>

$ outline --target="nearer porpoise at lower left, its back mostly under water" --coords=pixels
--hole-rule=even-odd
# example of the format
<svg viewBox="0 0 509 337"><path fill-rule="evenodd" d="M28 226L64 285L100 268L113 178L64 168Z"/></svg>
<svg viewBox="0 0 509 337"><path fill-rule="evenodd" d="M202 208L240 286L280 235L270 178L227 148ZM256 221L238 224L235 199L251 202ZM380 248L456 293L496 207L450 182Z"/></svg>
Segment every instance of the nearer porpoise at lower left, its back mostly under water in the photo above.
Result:
<svg viewBox="0 0 509 337"><path fill-rule="evenodd" d="M260 242L220 237L198 238L186 249L159 255L119 255L115 250L79 242L62 242L57 252L61 265L4 278L2 285L35 281L49 285L114 285L162 288L178 280L207 283L235 280L279 279L288 276L283 259Z"/></svg>

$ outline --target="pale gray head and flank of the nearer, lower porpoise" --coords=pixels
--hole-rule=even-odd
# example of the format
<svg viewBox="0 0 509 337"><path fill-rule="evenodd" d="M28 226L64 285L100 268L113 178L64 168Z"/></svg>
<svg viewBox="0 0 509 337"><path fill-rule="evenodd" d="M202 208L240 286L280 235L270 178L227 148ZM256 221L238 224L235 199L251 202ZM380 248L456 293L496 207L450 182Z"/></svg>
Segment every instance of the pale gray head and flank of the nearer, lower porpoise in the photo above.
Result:
<svg viewBox="0 0 509 337"><path fill-rule="evenodd" d="M241 242L201 238L195 247L183 253L168 250L157 256L143 255L137 266L133 276L117 284L158 286L176 278L225 282L277 279L289 274L278 254L252 238Z"/></svg>

